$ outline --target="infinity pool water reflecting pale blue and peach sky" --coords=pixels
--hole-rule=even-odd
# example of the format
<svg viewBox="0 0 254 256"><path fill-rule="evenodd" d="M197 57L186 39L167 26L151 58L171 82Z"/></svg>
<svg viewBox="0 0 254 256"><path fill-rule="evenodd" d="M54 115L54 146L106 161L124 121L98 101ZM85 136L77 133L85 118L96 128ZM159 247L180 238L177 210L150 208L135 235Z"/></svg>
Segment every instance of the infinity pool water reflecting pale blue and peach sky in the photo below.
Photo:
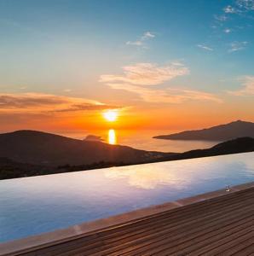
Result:
<svg viewBox="0 0 254 256"><path fill-rule="evenodd" d="M254 181L254 152L0 181L10 241Z"/></svg>

